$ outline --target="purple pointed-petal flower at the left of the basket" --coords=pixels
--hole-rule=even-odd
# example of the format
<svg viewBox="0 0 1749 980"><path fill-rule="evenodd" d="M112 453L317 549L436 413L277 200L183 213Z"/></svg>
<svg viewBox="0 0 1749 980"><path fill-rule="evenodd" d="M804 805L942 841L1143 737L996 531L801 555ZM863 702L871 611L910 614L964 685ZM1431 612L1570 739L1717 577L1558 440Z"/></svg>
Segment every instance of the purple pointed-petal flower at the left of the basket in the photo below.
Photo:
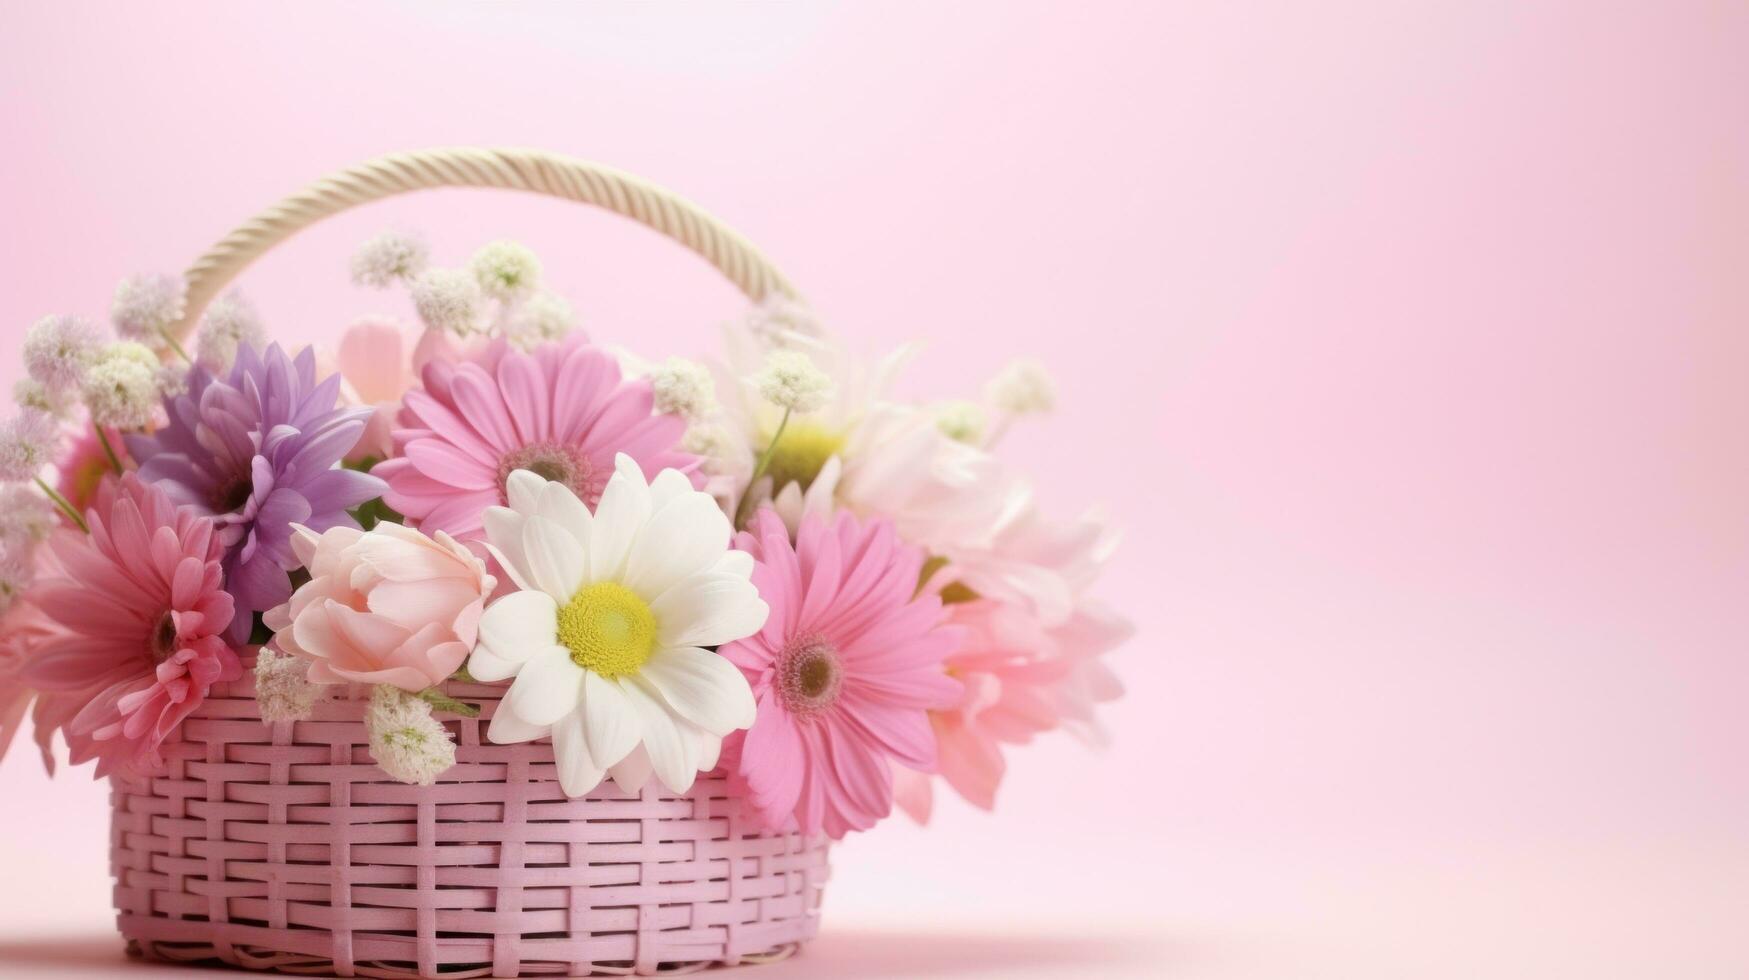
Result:
<svg viewBox="0 0 1749 980"><path fill-rule="evenodd" d="M280 345L266 354L243 345L226 380L196 368L189 390L164 399L170 424L128 439L143 480L217 520L226 590L238 607L234 642L248 637L252 612L292 595L292 523L357 527L348 508L387 490L374 476L336 469L371 416L369 408L336 408L339 383L339 374L317 383L310 348L294 360Z"/></svg>

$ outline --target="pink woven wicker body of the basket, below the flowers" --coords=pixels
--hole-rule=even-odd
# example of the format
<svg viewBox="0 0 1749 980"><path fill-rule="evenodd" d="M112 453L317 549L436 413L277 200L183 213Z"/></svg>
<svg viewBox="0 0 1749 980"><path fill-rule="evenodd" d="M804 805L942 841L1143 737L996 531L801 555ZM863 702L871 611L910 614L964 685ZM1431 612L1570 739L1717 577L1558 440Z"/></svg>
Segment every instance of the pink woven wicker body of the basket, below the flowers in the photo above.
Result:
<svg viewBox="0 0 1749 980"><path fill-rule="evenodd" d="M652 975L777 959L819 928L827 840L759 833L722 775L568 800L547 740L483 740L502 688L449 719L437 786L371 761L366 700L264 724L252 681L217 684L115 779L110 864L129 948L339 976ZM439 714L439 718L449 718Z"/></svg>

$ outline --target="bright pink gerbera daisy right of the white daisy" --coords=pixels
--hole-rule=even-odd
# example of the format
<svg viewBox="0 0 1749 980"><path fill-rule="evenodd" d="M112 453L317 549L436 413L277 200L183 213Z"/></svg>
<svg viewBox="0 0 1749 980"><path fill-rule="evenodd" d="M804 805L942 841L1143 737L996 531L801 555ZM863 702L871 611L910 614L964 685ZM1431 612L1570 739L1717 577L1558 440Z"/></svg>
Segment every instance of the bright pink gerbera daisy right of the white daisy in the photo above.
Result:
<svg viewBox="0 0 1749 980"><path fill-rule="evenodd" d="M960 642L941 600L916 593L922 551L885 520L805 518L791 546L784 520L756 514L736 546L771 606L761 632L719 653L747 676L759 705L726 768L750 808L778 830L838 838L892 812L892 763L930 772L929 710L958 704L943 660Z"/></svg>

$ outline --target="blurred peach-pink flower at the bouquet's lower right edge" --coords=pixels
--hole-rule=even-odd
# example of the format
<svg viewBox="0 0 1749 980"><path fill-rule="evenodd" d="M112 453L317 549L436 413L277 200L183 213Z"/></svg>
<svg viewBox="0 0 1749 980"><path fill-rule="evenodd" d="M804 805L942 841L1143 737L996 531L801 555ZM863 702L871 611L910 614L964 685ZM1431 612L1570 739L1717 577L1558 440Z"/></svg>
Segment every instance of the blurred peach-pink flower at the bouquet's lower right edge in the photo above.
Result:
<svg viewBox="0 0 1749 980"><path fill-rule="evenodd" d="M1063 726L1098 737L1093 705L1123 693L1098 656L1128 639L1132 628L1091 602L1055 628L1021 606L986 598L948 606L948 621L965 630L964 644L948 656L948 670L965 684L965 696L929 716L937 772L967 802L990 810L1006 770L1002 746L1025 746ZM901 770L894 779L899 807L929 822L929 777Z"/></svg>

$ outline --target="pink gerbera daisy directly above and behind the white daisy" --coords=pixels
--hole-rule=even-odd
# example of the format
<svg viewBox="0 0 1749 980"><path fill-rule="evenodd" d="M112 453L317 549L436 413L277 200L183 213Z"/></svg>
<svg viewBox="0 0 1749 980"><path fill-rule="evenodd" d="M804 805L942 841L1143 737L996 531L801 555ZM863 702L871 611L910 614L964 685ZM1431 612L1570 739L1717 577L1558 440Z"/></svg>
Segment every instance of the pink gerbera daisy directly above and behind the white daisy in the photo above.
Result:
<svg viewBox="0 0 1749 980"><path fill-rule="evenodd" d="M425 364L423 383L402 401L397 458L373 472L388 481L383 500L427 534L483 537L481 514L509 502L505 480L518 469L563 483L589 508L616 453L647 480L698 469L698 457L673 448L686 420L652 415L651 383L623 380L612 355L581 340L533 354L500 340L462 364Z"/></svg>

